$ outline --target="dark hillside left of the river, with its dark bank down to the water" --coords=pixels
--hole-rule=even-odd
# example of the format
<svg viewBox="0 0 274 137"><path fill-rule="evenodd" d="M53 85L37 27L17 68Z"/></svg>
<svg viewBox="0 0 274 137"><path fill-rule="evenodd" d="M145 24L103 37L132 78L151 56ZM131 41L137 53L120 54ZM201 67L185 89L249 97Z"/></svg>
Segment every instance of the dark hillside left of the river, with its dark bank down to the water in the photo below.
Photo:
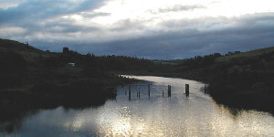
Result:
<svg viewBox="0 0 274 137"><path fill-rule="evenodd" d="M68 48L42 51L6 39L0 39L0 65L0 109L5 110L0 121L36 108L100 105L115 98L117 85L132 82L113 72L157 66L147 59L81 55Z"/></svg>

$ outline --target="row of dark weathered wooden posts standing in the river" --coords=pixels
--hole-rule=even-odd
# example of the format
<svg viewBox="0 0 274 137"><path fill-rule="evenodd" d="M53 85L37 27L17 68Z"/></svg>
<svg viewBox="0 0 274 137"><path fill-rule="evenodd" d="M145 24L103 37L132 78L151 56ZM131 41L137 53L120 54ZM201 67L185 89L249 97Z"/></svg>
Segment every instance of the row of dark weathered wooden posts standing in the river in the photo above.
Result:
<svg viewBox="0 0 274 137"><path fill-rule="evenodd" d="M148 97L151 97L151 84L147 85L147 89L148 89ZM184 92L185 96L188 97L189 96L189 84L185 84L185 92ZM127 95L127 92L125 91L125 95ZM164 95L164 91L163 91L163 95ZM171 85L167 86L167 95L170 98L171 97ZM137 91L137 98L140 99L140 88ZM132 100L132 85L129 86L129 100Z"/></svg>

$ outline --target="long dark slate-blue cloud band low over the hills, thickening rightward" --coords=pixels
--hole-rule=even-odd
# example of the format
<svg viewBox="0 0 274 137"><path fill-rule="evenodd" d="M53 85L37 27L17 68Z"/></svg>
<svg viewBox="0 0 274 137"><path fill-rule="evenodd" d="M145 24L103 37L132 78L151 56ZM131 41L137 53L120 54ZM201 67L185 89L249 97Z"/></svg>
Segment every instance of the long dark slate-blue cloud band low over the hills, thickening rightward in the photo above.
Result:
<svg viewBox="0 0 274 137"><path fill-rule="evenodd" d="M75 44L74 47L82 53L89 51L97 55L115 54L162 59L191 58L215 52L224 54L227 51L236 50L247 51L274 46L274 16L272 15L271 13L248 15L241 19L234 19L232 23L234 26L227 25L216 30L202 31L189 28L181 31L158 32L160 35L154 37L139 37L100 44L83 43L81 46ZM208 18L208 20L212 19Z"/></svg>

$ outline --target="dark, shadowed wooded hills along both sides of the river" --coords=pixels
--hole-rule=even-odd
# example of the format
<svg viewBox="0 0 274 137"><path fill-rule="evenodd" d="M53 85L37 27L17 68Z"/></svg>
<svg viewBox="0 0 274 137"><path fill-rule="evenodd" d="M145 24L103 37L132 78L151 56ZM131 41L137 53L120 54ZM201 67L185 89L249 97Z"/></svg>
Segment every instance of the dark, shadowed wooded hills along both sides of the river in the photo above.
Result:
<svg viewBox="0 0 274 137"><path fill-rule="evenodd" d="M115 98L116 85L132 82L121 73L202 80L217 102L274 111L274 47L149 60L81 55L68 47L54 53L0 39L0 64L0 108L101 103Z"/></svg>

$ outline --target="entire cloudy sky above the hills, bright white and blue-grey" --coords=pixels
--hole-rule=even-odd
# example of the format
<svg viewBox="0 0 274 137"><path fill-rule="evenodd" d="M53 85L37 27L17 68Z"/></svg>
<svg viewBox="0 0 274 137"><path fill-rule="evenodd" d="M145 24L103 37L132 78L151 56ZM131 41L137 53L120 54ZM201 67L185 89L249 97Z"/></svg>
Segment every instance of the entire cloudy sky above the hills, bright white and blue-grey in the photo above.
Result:
<svg viewBox="0 0 274 137"><path fill-rule="evenodd" d="M0 38L55 52L192 58L274 46L273 0L0 0Z"/></svg>

